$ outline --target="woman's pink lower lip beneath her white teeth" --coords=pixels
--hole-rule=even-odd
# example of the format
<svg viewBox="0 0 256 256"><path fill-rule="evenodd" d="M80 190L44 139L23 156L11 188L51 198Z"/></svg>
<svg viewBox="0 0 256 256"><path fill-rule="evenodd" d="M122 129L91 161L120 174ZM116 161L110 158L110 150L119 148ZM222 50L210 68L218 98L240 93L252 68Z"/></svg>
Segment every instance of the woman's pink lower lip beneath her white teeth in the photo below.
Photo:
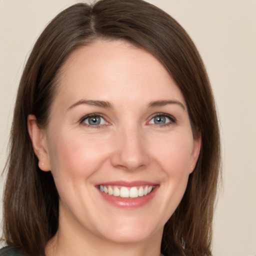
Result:
<svg viewBox="0 0 256 256"><path fill-rule="evenodd" d="M158 187L159 186L156 185L154 187L154 189L149 194L143 195L143 196L138 196L135 198L124 198L124 197L120 197L120 196L109 195L105 192L101 192L99 189L98 189L98 191L106 201L110 202L111 204L113 204L116 207L138 208L138 207L145 205L150 200L152 200Z"/></svg>

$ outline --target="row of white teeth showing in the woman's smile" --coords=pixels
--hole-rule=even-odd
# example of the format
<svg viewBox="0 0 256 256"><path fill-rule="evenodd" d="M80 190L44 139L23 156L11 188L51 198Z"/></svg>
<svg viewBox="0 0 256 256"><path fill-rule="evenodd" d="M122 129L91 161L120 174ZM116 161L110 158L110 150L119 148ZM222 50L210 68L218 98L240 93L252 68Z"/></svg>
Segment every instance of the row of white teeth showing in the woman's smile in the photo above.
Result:
<svg viewBox="0 0 256 256"><path fill-rule="evenodd" d="M99 190L103 193L118 196L122 198L136 198L149 194L153 189L153 185L143 186L111 186L111 185L99 185Z"/></svg>

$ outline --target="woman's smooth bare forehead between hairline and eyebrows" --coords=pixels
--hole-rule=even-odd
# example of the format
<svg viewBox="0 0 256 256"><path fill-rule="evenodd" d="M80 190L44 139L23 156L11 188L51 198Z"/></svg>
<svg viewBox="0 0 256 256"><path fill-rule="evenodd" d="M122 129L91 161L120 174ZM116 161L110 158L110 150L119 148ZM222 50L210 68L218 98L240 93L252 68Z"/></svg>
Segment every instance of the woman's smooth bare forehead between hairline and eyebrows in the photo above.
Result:
<svg viewBox="0 0 256 256"><path fill-rule="evenodd" d="M76 49L63 64L58 95L148 101L182 94L164 66L149 52L123 40L98 40ZM59 96L56 96L56 99ZM139 99L140 97L140 99ZM168 98L169 99L169 98Z"/></svg>

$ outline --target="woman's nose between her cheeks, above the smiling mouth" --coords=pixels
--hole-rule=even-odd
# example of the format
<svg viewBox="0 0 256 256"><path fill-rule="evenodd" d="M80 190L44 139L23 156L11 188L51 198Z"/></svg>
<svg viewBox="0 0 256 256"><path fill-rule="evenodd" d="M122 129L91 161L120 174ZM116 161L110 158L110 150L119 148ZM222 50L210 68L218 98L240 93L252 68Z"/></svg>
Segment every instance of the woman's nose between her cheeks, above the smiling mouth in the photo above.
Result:
<svg viewBox="0 0 256 256"><path fill-rule="evenodd" d="M115 137L111 164L119 169L133 171L149 164L146 139L138 128L123 128Z"/></svg>

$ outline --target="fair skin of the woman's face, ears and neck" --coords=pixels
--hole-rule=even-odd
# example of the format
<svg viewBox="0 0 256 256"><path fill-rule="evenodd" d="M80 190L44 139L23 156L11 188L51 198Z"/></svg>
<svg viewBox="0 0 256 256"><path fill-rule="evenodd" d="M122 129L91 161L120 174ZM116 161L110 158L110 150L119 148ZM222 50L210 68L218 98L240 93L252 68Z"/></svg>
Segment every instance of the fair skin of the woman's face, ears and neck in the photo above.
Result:
<svg viewBox="0 0 256 256"><path fill-rule="evenodd" d="M91 113L102 116L99 125L88 125ZM60 197L59 229L46 255L160 255L164 223L183 196L200 136L193 138L182 93L155 57L123 41L77 49L61 68L47 127L29 115L28 130ZM116 207L95 186L115 180L157 189L141 207Z"/></svg>

